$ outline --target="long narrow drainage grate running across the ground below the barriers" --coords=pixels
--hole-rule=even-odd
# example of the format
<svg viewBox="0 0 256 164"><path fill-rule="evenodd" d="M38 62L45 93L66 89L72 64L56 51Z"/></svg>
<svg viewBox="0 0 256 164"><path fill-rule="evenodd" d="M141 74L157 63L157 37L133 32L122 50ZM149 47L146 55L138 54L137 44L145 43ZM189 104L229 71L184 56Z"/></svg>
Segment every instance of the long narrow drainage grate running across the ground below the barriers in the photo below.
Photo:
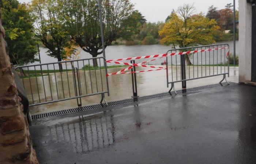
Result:
<svg viewBox="0 0 256 164"><path fill-rule="evenodd" d="M234 84L234 83L231 83ZM186 93L192 92L192 91L197 91L197 90L202 90L202 89L207 89L207 88L214 88L214 87L220 87L223 85L227 85L227 83L221 84L214 84L214 85L207 85L207 86L202 86L202 87L195 87L191 89L187 89ZM177 91L178 94L182 93L182 90ZM171 92L171 95L175 94L174 92ZM154 99L154 98L161 98L161 97L166 97L169 96L170 93L159 93L159 94L153 94L153 95L147 95L147 96L142 96L138 98L130 98L130 99L124 99L124 100L119 100L119 101L112 101L109 102L109 106L115 106L115 105L121 105L121 104L128 104L131 102L137 102L137 101L143 101L147 99ZM65 109L65 110L60 110L60 111L55 111L55 112L49 112L49 113L42 113L42 114L35 114L32 115L32 120L37 120L41 118L47 118L47 117L53 117L53 116L60 116L64 114L70 114L70 113L76 113L76 112L82 112L86 110L93 110L93 109L99 109L99 108L104 108L106 107L105 104L96 104L96 105L89 105L89 106L83 106L83 107L78 107L78 108L72 108L72 109Z"/></svg>

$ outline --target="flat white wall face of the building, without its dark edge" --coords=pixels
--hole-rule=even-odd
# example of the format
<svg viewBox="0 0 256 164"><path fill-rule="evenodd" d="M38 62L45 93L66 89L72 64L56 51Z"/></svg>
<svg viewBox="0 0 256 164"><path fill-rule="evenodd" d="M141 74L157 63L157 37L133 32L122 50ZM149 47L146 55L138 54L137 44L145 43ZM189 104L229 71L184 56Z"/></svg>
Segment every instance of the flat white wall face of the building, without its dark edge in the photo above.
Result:
<svg viewBox="0 0 256 164"><path fill-rule="evenodd" d="M239 0L239 82L251 81L252 4Z"/></svg>

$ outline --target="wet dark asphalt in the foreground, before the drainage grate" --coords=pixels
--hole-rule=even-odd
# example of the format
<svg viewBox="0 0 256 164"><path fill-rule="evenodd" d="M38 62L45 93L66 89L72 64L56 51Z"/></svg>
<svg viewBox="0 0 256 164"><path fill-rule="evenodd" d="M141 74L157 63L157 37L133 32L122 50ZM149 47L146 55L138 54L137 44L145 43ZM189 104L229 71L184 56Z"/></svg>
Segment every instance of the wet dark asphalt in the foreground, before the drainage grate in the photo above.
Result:
<svg viewBox="0 0 256 164"><path fill-rule="evenodd" d="M256 163L255 95L231 84L35 120L30 132L42 164Z"/></svg>

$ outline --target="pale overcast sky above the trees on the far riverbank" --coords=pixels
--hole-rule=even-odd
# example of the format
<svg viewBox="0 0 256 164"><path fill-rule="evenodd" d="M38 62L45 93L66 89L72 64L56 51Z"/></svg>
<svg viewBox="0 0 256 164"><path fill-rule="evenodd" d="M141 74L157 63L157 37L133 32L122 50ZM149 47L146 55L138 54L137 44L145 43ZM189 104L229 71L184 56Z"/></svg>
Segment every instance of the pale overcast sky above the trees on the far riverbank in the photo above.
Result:
<svg viewBox="0 0 256 164"><path fill-rule="evenodd" d="M19 1L28 3L31 0ZM208 7L211 5L222 9L227 3L233 4L233 0L131 0L131 2L149 22L164 21L172 9L176 10L184 3L194 3L197 12L202 11L203 13L207 13ZM238 9L238 0L236 0L236 8Z"/></svg>

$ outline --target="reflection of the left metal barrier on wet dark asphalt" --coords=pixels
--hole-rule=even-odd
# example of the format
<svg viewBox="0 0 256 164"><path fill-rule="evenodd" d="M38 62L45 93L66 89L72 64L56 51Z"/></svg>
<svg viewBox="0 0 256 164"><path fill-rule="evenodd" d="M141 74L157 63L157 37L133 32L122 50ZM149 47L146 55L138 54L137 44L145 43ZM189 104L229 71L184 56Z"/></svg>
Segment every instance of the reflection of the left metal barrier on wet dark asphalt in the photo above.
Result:
<svg viewBox="0 0 256 164"><path fill-rule="evenodd" d="M115 142L113 115L79 116L74 122L49 126L47 133L54 142L71 143L76 153L109 148Z"/></svg>

